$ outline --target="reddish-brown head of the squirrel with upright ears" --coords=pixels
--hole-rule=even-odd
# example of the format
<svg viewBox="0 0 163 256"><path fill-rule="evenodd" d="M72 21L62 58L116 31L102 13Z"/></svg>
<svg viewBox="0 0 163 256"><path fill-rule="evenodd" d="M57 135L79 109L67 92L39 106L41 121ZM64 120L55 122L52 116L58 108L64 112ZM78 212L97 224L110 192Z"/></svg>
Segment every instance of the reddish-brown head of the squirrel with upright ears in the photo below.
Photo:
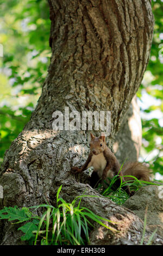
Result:
<svg viewBox="0 0 163 256"><path fill-rule="evenodd" d="M90 141L90 150L92 154L98 155L105 150L106 142L105 142L105 135L100 137L95 137L91 133L91 141Z"/></svg>

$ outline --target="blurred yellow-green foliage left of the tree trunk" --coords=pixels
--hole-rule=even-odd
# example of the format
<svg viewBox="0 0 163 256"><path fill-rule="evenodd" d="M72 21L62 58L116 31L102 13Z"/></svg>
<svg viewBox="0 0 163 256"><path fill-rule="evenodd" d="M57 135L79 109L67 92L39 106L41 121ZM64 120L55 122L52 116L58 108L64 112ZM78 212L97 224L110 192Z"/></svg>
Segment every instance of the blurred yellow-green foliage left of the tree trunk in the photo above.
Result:
<svg viewBox="0 0 163 256"><path fill-rule="evenodd" d="M47 75L49 7L46 0L0 0L0 163L28 122Z"/></svg>

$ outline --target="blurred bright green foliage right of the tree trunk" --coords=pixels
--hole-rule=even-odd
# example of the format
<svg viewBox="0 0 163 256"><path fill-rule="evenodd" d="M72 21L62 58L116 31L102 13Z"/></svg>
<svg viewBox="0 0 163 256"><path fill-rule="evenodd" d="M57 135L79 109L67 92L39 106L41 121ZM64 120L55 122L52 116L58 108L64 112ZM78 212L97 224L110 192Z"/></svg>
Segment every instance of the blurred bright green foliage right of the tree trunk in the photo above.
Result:
<svg viewBox="0 0 163 256"><path fill-rule="evenodd" d="M142 112L142 161L146 160L154 173L163 175L163 2L153 0L152 9L155 25L151 58L137 96Z"/></svg>

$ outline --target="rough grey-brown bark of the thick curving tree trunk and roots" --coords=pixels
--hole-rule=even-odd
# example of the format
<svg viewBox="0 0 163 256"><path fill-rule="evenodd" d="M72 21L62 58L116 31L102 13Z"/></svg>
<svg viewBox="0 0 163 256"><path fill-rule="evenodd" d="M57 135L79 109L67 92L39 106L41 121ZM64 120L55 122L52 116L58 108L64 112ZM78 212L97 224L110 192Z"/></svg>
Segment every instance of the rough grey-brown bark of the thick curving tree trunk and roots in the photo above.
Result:
<svg viewBox="0 0 163 256"><path fill-rule="evenodd" d="M111 147L149 59L153 35L149 0L49 0L49 7L51 64L29 123L5 154L2 207L38 205L47 197L55 204L60 185L68 202L84 193L99 196L70 172L87 156L89 132L55 132L52 114L64 112L65 106L80 113L111 111ZM143 223L131 211L104 197L85 197L82 202L96 214L115 220L119 223L115 228L121 231L103 232L97 226L101 236L92 233L92 244L140 242ZM10 223L1 225L1 234L3 245L20 244L20 233ZM150 234L147 229L146 236ZM157 239L156 234L154 244L162 242Z"/></svg>

